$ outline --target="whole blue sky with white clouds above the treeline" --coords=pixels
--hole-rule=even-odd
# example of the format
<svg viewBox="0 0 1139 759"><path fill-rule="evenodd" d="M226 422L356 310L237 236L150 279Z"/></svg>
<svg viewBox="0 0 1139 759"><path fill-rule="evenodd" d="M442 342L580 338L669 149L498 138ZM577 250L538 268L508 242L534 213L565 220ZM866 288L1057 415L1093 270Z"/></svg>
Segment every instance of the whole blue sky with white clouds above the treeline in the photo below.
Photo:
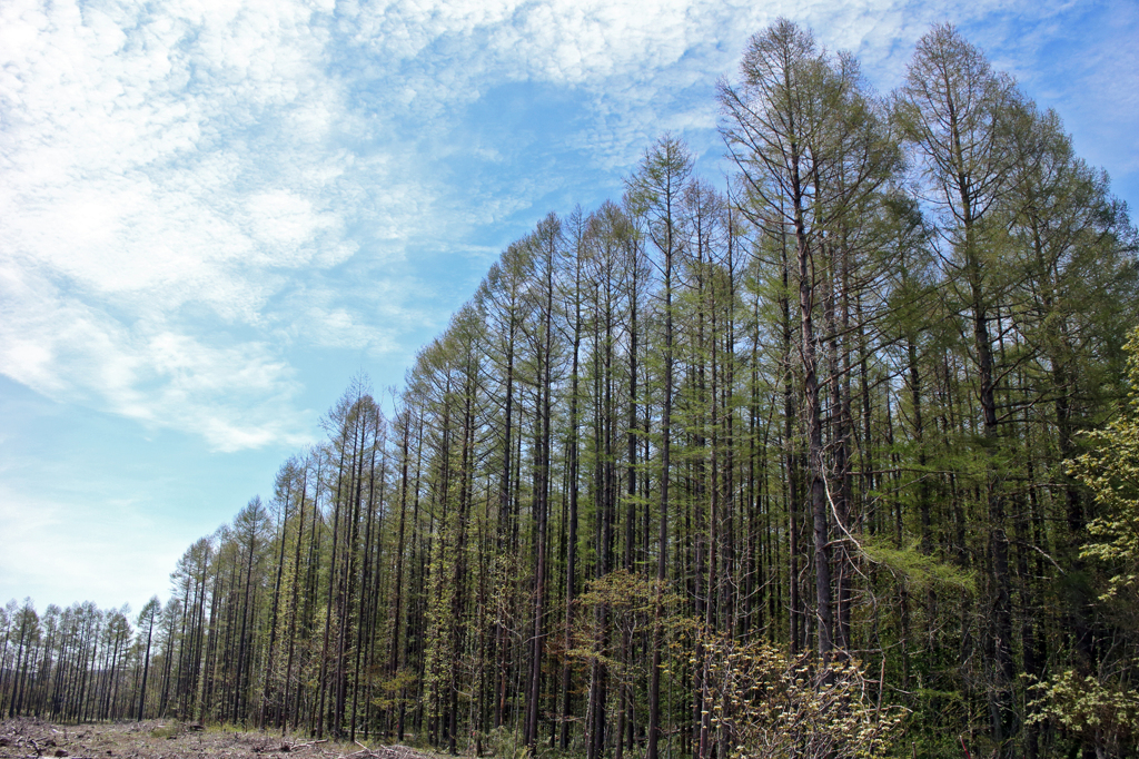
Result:
<svg viewBox="0 0 1139 759"><path fill-rule="evenodd" d="M882 93L956 24L1139 209L1134 0L0 0L0 603L165 598L548 212L665 132L722 182L781 15Z"/></svg>

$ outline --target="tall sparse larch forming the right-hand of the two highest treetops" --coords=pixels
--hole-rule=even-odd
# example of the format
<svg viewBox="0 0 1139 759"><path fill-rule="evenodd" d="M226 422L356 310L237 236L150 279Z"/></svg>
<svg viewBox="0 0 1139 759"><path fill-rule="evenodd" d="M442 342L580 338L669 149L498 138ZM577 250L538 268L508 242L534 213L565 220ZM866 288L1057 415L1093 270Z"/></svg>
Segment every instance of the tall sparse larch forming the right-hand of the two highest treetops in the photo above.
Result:
<svg viewBox="0 0 1139 759"><path fill-rule="evenodd" d="M902 133L920 161L925 199L937 210L937 231L954 302L972 321L973 361L985 441L989 607L992 625L992 731L1002 756L1017 732L1013 680L1013 607L1006 493L1001 485L997 374L990 325L1008 285L998 266L997 220L1015 187L1013 136L1022 105L1010 77L956 28L935 26L918 41L898 100Z"/></svg>

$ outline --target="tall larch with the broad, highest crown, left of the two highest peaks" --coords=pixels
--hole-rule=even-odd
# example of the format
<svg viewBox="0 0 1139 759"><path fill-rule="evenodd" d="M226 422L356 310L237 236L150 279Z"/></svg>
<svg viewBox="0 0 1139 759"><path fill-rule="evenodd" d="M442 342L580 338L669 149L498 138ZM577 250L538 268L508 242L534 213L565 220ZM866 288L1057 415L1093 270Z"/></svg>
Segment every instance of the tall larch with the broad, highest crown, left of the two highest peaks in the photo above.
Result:
<svg viewBox="0 0 1139 759"><path fill-rule="evenodd" d="M831 414L841 418L839 392L846 367L837 357L835 340L850 328L835 320L836 296L846 284L842 267L852 256L852 230L865 222L866 206L896 165L896 150L872 103L862 93L858 66L850 56L828 59L818 51L810 32L787 19L772 24L748 42L737 85L721 82L722 132L749 197L760 207L751 214L763 231L795 240L794 275L798 285L801 397L806 418L810 504L814 530L816 613L818 651L823 662L835 645L830 564L830 501L838 527L850 536L849 491L844 433L838 441L837 470L829 475L823 443L823 403L820 394L820 307L830 333L829 385ZM859 214L862 218L859 218ZM839 264L839 266L836 266ZM828 281L829 277L829 281ZM828 296L828 287L830 289ZM844 305L845 308L845 305ZM845 475L845 476L849 476ZM841 544L842 545L842 544ZM849 589L852 574L846 549L839 572L839 628L842 646L849 645Z"/></svg>

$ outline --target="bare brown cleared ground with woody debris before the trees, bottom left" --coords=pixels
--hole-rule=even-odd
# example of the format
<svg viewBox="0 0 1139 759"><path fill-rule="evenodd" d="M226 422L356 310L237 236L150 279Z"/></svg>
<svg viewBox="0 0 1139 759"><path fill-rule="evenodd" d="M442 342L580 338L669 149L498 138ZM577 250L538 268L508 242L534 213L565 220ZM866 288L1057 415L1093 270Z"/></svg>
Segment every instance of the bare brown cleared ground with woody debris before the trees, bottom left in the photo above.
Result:
<svg viewBox="0 0 1139 759"><path fill-rule="evenodd" d="M174 721L0 721L0 759L286 759L294 754L296 759L436 759L403 745L344 744Z"/></svg>

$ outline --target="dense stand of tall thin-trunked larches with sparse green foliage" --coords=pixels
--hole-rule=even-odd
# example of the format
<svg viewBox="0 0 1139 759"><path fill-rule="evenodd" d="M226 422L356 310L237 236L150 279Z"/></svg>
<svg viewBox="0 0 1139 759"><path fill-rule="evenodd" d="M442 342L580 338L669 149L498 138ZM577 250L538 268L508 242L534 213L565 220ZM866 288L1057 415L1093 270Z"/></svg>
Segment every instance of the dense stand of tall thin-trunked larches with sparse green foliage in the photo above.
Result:
<svg viewBox="0 0 1139 759"><path fill-rule="evenodd" d="M1139 237L1106 173L949 25L880 95L779 21L718 98L724 186L664 136L547 215L165 603L9 603L2 713L1139 756Z"/></svg>

